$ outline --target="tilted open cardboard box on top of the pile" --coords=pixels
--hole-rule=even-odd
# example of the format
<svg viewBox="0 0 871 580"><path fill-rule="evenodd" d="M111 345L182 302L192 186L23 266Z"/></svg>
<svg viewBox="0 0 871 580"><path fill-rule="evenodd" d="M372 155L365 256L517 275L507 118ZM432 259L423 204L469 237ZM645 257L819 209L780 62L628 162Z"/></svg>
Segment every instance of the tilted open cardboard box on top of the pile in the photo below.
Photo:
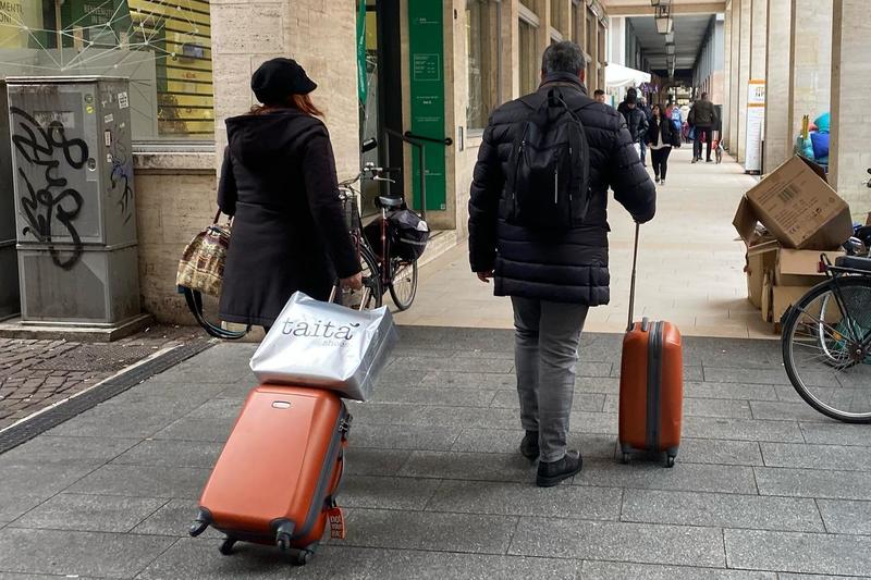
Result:
<svg viewBox="0 0 871 580"><path fill-rule="evenodd" d="M850 208L825 182L815 163L794 157L752 187L733 225L749 245L757 222L786 248L834 249L852 235Z"/></svg>

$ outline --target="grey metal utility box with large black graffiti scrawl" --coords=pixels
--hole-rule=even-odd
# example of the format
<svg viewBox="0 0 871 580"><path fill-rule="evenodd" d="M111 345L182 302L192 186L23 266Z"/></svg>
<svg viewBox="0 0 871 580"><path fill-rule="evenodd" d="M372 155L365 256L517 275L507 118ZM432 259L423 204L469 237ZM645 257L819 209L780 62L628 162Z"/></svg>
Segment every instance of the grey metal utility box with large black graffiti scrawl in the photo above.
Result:
<svg viewBox="0 0 871 580"><path fill-rule="evenodd" d="M24 323L140 313L130 88L8 78Z"/></svg>

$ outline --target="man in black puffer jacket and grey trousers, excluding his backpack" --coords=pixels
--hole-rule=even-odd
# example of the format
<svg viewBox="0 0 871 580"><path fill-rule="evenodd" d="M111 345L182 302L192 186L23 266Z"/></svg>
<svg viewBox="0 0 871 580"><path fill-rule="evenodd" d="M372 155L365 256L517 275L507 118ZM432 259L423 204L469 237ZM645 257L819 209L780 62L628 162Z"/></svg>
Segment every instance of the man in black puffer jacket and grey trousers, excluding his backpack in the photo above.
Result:
<svg viewBox="0 0 871 580"><path fill-rule="evenodd" d="M539 459L537 483L555 485L580 471L580 454L568 452L568 417L580 332L591 306L609 301L608 187L638 222L655 211L655 186L641 166L623 116L587 97L585 61L574 42L544 51L539 94L559 87L580 119L589 145L590 201L582 225L531 230L506 222L505 176L516 133L532 112L523 100L490 118L469 200L471 270L495 280L496 296L511 296L516 328L515 360L520 452Z"/></svg>

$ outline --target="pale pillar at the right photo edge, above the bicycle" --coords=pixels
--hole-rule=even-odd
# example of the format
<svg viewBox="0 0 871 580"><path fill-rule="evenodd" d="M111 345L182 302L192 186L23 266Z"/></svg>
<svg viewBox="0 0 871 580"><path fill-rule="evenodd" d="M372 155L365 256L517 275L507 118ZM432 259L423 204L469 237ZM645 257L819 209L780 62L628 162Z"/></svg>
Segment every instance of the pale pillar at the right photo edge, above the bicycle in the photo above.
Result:
<svg viewBox="0 0 871 580"><path fill-rule="evenodd" d="M857 218L871 210L871 18L866 0L835 0L832 35L832 135L829 182Z"/></svg>

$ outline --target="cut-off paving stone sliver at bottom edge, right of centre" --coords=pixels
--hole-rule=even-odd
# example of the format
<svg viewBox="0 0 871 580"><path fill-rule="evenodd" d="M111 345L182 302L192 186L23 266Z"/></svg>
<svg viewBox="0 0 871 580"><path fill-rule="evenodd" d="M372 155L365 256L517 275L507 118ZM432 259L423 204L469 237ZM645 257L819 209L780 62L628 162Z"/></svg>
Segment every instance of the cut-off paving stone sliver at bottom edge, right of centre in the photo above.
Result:
<svg viewBox="0 0 871 580"><path fill-rule="evenodd" d="M584 560L584 580L777 580L774 572Z"/></svg>

